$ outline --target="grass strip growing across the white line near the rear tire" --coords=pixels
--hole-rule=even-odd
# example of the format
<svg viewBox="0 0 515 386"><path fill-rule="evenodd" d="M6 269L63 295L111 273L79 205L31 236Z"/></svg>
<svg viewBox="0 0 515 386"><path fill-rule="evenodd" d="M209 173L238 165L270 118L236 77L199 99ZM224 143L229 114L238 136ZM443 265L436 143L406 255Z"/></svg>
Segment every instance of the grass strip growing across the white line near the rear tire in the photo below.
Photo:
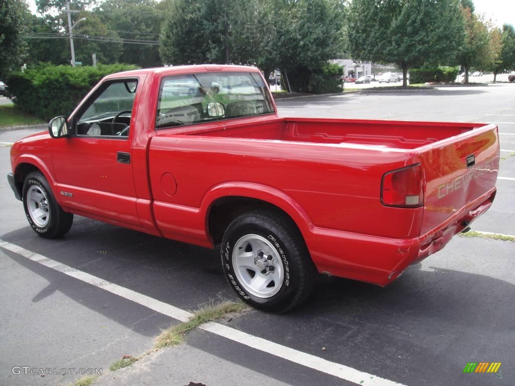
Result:
<svg viewBox="0 0 515 386"><path fill-rule="evenodd" d="M154 348L177 346L184 342L184 336L187 332L197 328L203 323L220 319L228 313L243 311L245 307L246 305L244 303L233 302L226 302L217 306L205 306L195 312L193 317L187 322L172 326L161 332L161 335L156 338Z"/></svg>

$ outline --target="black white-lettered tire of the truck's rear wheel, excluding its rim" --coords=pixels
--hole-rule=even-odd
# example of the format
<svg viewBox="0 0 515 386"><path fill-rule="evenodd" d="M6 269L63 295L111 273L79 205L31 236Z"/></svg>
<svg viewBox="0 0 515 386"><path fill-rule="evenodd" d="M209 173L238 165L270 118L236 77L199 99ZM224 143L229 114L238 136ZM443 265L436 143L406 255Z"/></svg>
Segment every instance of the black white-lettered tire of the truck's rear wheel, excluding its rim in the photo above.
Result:
<svg viewBox="0 0 515 386"><path fill-rule="evenodd" d="M264 237L273 245L277 254L281 257L284 278L281 289L271 297L261 298L248 293L239 283L234 272L232 254L236 242L243 236L255 234ZM282 252L282 253L281 253ZM299 287L298 247L295 241L288 235L288 231L282 226L267 226L261 219L249 216L235 220L224 236L221 244L222 267L227 281L236 295L253 307L277 311L284 307L288 300L293 299Z"/></svg>

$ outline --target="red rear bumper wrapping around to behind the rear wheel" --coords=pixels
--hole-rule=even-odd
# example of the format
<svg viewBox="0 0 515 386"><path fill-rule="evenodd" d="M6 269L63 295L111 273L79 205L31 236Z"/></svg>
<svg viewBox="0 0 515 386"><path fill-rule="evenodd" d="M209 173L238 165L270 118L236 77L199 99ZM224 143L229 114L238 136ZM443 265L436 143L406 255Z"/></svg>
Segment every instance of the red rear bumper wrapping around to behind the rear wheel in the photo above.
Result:
<svg viewBox="0 0 515 386"><path fill-rule="evenodd" d="M308 249L319 272L386 286L485 213L495 191L492 188L420 237L391 239L317 228L306 239Z"/></svg>

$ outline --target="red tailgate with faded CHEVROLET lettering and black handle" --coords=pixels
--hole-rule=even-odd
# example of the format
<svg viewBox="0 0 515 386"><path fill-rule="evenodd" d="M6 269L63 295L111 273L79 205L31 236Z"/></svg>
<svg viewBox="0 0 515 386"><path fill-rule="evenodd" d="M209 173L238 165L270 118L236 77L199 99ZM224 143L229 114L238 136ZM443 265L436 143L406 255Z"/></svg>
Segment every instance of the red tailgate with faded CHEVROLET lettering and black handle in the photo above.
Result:
<svg viewBox="0 0 515 386"><path fill-rule="evenodd" d="M497 126L475 127L417 149L426 181L421 235L435 230L495 186L499 170Z"/></svg>

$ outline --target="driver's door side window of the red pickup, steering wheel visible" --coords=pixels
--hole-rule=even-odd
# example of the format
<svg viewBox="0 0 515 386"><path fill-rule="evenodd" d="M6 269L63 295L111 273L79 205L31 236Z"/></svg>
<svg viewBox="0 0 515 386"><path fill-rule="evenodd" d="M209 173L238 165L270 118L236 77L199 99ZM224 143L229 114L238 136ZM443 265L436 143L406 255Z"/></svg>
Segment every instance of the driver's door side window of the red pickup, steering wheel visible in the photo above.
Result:
<svg viewBox="0 0 515 386"><path fill-rule="evenodd" d="M77 135L128 137L138 81L106 83L77 118Z"/></svg>

